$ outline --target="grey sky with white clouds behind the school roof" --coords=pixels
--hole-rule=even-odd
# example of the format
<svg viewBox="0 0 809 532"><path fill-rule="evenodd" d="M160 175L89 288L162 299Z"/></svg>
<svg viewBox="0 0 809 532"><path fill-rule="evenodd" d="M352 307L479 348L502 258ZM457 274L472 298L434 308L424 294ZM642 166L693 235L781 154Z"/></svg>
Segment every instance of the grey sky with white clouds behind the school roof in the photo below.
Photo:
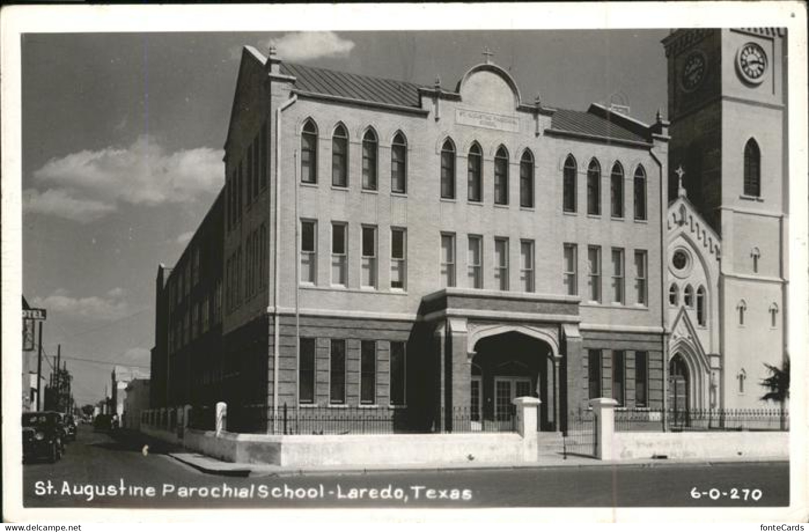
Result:
<svg viewBox="0 0 809 532"><path fill-rule="evenodd" d="M159 263L180 256L223 183L241 47L288 61L443 87L484 60L523 100L666 114L668 30L25 34L23 294L48 310L44 351L79 405L115 364L149 366ZM85 359L85 360L78 360ZM49 369L49 365L45 365ZM47 374L47 372L46 372Z"/></svg>

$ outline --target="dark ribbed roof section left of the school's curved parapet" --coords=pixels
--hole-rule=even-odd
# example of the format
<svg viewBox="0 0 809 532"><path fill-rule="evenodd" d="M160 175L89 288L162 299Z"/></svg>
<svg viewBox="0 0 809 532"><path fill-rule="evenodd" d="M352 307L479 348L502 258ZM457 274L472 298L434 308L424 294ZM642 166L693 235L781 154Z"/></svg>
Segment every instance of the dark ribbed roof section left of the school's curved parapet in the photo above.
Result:
<svg viewBox="0 0 809 532"><path fill-rule="evenodd" d="M415 83L372 78L287 62L281 63L281 73L296 78L294 87L297 91L401 107L421 107L419 86Z"/></svg>

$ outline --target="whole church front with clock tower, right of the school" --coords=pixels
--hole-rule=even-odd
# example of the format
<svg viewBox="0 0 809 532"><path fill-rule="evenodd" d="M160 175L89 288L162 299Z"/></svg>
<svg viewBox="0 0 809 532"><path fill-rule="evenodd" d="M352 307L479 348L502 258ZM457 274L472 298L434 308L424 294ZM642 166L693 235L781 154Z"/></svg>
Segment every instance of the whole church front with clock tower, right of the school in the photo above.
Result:
<svg viewBox="0 0 809 532"><path fill-rule="evenodd" d="M786 32L688 30L663 44L674 198L668 399L766 407L765 364L781 367L787 356Z"/></svg>

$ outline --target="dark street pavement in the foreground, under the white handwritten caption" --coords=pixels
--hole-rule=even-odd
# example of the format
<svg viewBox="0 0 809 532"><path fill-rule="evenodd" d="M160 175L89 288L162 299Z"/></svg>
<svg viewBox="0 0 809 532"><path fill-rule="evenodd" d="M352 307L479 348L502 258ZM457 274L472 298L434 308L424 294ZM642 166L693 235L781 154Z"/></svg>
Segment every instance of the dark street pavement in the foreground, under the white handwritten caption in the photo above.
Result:
<svg viewBox="0 0 809 532"><path fill-rule="evenodd" d="M144 453L143 446L149 445ZM210 475L137 434L82 425L60 462L23 466L23 504L75 508L773 507L787 462Z"/></svg>

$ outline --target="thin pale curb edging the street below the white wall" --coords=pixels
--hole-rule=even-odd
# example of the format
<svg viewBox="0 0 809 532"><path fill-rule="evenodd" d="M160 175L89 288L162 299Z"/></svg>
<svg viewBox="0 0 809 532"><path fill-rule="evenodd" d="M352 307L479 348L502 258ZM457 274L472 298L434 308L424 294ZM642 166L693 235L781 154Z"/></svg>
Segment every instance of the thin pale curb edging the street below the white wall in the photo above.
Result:
<svg viewBox="0 0 809 532"><path fill-rule="evenodd" d="M523 471L523 470L540 470L540 469L585 469L585 468L604 468L604 467L625 467L625 468L653 468L653 467L715 467L726 466L739 463L762 463L762 464L778 464L789 463L790 461L785 458L751 458L749 460L699 460L699 461L655 461L655 462L567 462L567 463L536 463L529 462L525 464L491 464L479 466L466 466L466 465L444 465L444 466L430 466L430 467L346 467L334 469L300 469L300 468L282 468L278 467L276 471L264 470L261 466L251 467L210 467L205 466L200 461L188 460L187 458L178 456L177 454L168 454L178 462L182 462L198 471L210 475L221 476L234 476L234 477L248 477L248 476L270 476L270 477L290 477L290 476L308 476L308 475L368 475L368 474L391 474L401 472L453 472L453 471ZM209 460L206 458L206 460ZM214 462L215 463L215 462ZM226 462L222 462L223 464ZM230 466L230 464L228 464ZM235 466L235 464L234 464Z"/></svg>

